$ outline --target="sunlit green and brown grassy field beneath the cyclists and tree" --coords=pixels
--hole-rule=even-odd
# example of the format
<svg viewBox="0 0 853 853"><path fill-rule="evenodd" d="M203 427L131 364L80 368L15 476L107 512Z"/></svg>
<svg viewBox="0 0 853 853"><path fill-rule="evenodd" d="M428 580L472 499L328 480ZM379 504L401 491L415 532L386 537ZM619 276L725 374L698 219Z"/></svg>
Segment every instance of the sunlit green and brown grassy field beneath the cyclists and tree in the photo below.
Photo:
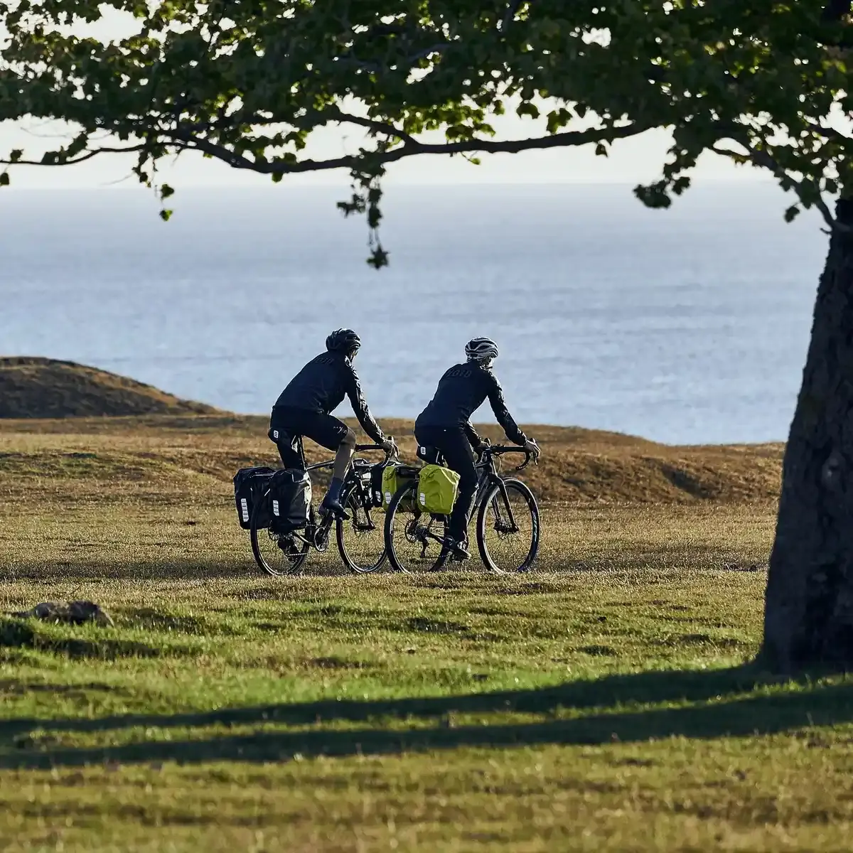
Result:
<svg viewBox="0 0 853 853"><path fill-rule="evenodd" d="M749 663L780 449L539 434L537 572L274 580L261 421L0 422L0 610L116 623L0 618L0 850L850 849L853 680Z"/></svg>

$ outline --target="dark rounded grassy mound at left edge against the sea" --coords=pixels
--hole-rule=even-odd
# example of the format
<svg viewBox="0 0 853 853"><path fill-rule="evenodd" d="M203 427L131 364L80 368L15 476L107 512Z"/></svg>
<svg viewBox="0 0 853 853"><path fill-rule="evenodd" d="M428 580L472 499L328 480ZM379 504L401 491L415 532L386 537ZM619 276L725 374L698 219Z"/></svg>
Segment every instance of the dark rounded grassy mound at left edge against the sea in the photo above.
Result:
<svg viewBox="0 0 853 853"><path fill-rule="evenodd" d="M0 358L0 418L215 412L106 370L51 358Z"/></svg>

